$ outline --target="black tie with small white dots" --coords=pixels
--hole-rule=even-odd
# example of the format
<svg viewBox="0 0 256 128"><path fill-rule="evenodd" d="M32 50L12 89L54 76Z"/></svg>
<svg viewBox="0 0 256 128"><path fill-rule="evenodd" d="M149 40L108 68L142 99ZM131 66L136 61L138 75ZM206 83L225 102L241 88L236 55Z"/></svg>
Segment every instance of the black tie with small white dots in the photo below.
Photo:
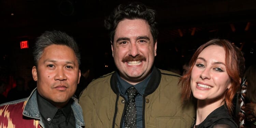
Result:
<svg viewBox="0 0 256 128"><path fill-rule="evenodd" d="M134 87L130 87L126 90L128 94L128 101L125 108L125 127L136 128L136 103L135 97L138 95L138 91Z"/></svg>

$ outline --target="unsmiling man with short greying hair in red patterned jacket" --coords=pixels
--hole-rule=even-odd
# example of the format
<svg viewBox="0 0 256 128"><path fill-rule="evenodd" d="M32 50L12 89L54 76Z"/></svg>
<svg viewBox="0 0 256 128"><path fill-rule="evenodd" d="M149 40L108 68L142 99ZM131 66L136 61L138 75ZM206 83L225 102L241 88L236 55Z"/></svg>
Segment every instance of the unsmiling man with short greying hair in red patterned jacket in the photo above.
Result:
<svg viewBox="0 0 256 128"><path fill-rule="evenodd" d="M0 105L3 128L82 128L81 106L72 99L80 80L80 53L72 37L46 31L35 42L30 96Z"/></svg>

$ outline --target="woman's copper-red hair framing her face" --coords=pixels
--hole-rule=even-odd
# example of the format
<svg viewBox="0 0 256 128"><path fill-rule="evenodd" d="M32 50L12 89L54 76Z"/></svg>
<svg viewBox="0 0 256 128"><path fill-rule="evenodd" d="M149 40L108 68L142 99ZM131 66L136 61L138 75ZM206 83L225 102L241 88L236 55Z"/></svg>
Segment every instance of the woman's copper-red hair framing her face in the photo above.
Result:
<svg viewBox="0 0 256 128"><path fill-rule="evenodd" d="M227 73L231 79L231 87L225 93L225 104L227 109L230 113L232 113L233 104L232 100L234 95L236 94L237 90L240 88L241 79L244 76L244 58L242 52L238 47L230 43L228 40L221 40L221 39L212 39L207 43L201 45L197 51L192 56L189 65L190 70L187 74L181 77L179 84L182 86L182 101L189 101L192 97L191 87L190 87L190 80L191 80L191 71L194 67L198 55L203 51L204 48L217 45L221 46L225 50L225 63Z"/></svg>

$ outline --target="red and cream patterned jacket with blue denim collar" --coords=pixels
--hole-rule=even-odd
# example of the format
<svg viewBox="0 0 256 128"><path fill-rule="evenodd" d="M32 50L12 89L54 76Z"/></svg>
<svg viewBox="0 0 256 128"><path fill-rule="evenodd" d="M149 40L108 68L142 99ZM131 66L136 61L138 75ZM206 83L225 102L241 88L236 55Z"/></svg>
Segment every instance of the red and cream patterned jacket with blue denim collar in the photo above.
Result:
<svg viewBox="0 0 256 128"><path fill-rule="evenodd" d="M81 106L71 104L76 128L85 126ZM37 88L28 98L0 104L0 128L45 128L37 104Z"/></svg>

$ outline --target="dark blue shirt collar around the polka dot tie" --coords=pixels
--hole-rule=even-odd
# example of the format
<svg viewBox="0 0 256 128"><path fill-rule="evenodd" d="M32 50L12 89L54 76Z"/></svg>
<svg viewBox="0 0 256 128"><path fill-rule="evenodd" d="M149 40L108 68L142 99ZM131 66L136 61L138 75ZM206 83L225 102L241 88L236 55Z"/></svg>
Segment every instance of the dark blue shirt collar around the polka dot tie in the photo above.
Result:
<svg viewBox="0 0 256 128"><path fill-rule="evenodd" d="M120 85L120 90L121 90L120 93L121 93L122 95L125 95L126 90L127 90L128 88L130 88L131 86L133 86L134 88L136 88L136 90L139 92L139 94L140 94L141 96L143 96L143 95L144 95L145 88L147 87L147 84L148 84L148 82L149 82L149 80L150 80L150 78L151 78L151 74L152 74L152 72L151 72L150 75L148 75L148 76L146 77L146 79L143 80L142 82L140 82L140 83L138 83L138 84L136 84L136 85L131 85L131 84L129 84L128 82L126 82L124 79L122 79L122 78L120 77L119 73L117 73L117 82L118 82L118 85Z"/></svg>

